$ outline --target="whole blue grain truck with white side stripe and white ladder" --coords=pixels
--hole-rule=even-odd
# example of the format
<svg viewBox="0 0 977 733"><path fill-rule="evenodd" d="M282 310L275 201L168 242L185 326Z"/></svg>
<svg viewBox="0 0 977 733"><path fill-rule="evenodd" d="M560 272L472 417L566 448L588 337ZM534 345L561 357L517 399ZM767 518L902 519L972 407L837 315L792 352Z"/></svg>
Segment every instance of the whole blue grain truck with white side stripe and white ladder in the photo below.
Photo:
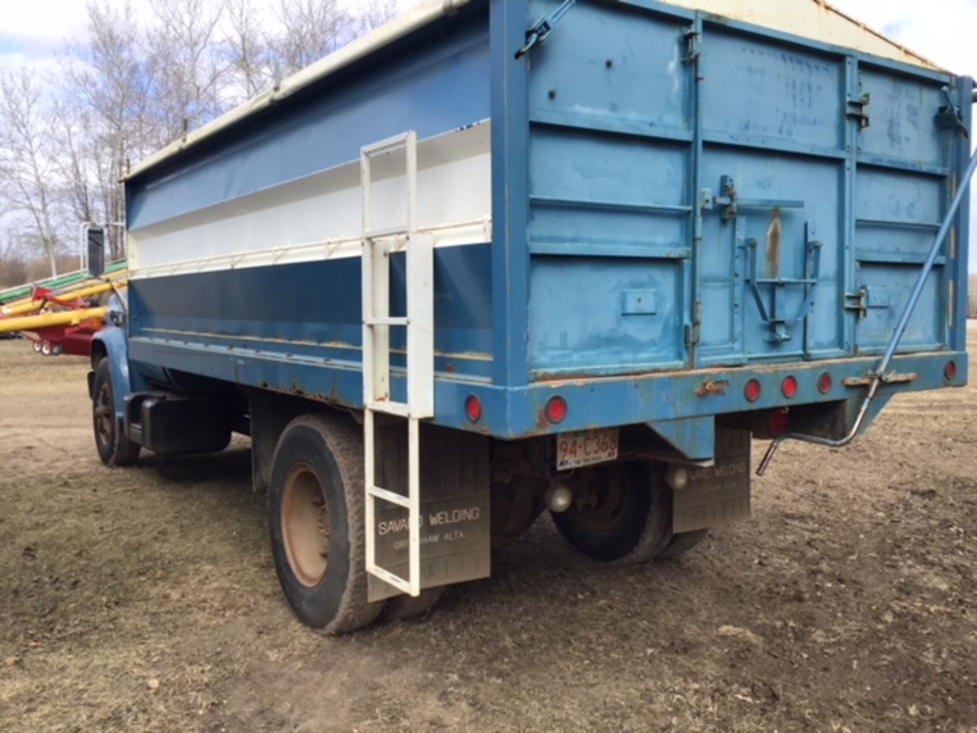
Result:
<svg viewBox="0 0 977 733"><path fill-rule="evenodd" d="M674 557L753 438L963 385L972 81L683 5L429 0L133 167L102 459L250 436L334 633L546 510Z"/></svg>

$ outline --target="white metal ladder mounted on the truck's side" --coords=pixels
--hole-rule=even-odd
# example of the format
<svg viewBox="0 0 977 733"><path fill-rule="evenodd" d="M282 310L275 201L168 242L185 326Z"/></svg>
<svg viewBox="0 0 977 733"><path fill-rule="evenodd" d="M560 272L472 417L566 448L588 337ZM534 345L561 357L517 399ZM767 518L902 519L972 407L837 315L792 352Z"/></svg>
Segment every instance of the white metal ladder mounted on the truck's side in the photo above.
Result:
<svg viewBox="0 0 977 733"><path fill-rule="evenodd" d="M404 151L406 221L374 229L373 158ZM412 596L421 592L420 421L434 417L434 245L417 233L417 133L367 146L360 157L362 190L363 445L366 487L366 572ZM390 254L403 241L406 251L407 313L390 316ZM407 332L407 401L394 402L390 389L390 328ZM376 485L375 414L402 417L407 423L407 496ZM406 578L376 563L376 500L407 510Z"/></svg>

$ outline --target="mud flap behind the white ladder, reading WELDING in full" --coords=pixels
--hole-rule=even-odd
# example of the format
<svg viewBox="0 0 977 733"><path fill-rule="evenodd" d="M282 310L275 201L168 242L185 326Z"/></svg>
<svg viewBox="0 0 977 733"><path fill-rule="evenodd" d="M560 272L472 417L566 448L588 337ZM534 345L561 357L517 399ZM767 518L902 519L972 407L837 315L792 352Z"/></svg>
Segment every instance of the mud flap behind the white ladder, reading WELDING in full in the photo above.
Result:
<svg viewBox="0 0 977 733"><path fill-rule="evenodd" d="M407 443L403 425L378 422L376 438L378 485L405 495ZM422 589L488 578L488 487L485 436L421 425ZM406 578L406 509L378 500L373 531L377 564ZM373 576L368 583L370 601L400 594Z"/></svg>

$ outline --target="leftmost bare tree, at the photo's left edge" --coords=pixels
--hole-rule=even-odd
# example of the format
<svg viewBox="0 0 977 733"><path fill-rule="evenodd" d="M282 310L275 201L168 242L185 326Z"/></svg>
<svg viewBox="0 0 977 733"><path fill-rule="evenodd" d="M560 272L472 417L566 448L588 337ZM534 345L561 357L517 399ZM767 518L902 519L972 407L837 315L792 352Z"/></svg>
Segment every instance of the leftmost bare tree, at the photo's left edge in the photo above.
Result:
<svg viewBox="0 0 977 733"><path fill-rule="evenodd" d="M9 213L30 222L54 276L58 274L60 241L52 169L58 151L42 96L36 73L29 67L0 75L0 168L4 174L0 196Z"/></svg>

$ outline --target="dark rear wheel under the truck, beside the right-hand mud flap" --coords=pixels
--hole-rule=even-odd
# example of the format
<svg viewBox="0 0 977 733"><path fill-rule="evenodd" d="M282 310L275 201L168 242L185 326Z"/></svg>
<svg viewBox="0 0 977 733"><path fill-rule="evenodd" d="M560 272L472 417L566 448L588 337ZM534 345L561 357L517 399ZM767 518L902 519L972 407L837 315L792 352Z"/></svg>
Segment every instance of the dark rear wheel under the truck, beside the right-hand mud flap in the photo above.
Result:
<svg viewBox="0 0 977 733"><path fill-rule="evenodd" d="M602 562L655 559L672 538L668 487L654 466L609 463L578 470L573 505L553 522L574 548Z"/></svg>

